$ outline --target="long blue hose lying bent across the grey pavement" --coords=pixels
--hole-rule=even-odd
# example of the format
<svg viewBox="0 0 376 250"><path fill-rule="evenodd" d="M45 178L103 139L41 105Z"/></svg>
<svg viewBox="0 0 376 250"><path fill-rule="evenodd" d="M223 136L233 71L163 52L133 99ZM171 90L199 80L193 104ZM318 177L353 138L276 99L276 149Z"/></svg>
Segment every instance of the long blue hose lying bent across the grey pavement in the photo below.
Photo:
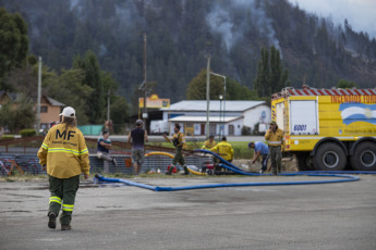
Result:
<svg viewBox="0 0 376 250"><path fill-rule="evenodd" d="M313 184L332 184L332 183L345 183L360 180L359 176L352 175L339 175L339 174L304 174L304 173L289 173L283 174L287 176L293 175L307 175L307 176L319 176L319 177L338 177L340 179L326 179L326 180L298 180L298 182L268 182L268 183L229 183L229 184L207 184L196 186L182 186L182 187L156 187L135 182L130 182L120 178L107 178L104 176L97 176L99 182L111 182L111 183L123 183L130 186L145 188L153 191L182 191L192 189L204 189L204 188L223 188L223 187L246 187L246 186L281 186L281 185L313 185Z"/></svg>

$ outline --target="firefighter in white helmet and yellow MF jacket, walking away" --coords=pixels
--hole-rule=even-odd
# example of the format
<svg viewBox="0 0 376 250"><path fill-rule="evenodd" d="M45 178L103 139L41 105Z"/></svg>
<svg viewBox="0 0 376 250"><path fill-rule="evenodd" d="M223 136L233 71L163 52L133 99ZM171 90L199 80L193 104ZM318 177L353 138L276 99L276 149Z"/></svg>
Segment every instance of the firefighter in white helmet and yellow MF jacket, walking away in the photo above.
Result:
<svg viewBox="0 0 376 250"><path fill-rule="evenodd" d="M56 228L60 216L61 229L70 230L74 199L78 190L80 175L89 175L88 151L83 134L76 127L75 111L64 108L62 122L50 128L39 151L39 163L47 168L51 197L48 209L48 227Z"/></svg>

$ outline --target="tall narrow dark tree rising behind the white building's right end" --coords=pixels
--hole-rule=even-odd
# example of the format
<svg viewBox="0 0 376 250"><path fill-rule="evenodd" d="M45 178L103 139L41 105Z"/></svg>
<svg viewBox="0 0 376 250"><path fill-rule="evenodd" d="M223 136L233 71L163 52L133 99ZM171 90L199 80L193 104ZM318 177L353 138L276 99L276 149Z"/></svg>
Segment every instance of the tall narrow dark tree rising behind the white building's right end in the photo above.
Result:
<svg viewBox="0 0 376 250"><path fill-rule="evenodd" d="M283 70L278 49L270 48L270 57L267 48L262 49L262 59L257 65L257 76L253 82L253 88L258 97L269 97L280 91L288 85L289 71Z"/></svg>

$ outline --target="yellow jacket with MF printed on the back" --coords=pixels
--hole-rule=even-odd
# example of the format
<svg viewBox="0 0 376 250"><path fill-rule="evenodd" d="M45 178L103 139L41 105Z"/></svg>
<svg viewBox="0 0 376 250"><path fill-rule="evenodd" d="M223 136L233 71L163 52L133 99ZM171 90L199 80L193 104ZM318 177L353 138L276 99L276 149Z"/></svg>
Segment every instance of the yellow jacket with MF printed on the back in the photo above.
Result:
<svg viewBox="0 0 376 250"><path fill-rule="evenodd" d="M88 150L84 135L76 127L59 124L50 128L38 151L40 165L57 178L70 178L81 173L89 174Z"/></svg>

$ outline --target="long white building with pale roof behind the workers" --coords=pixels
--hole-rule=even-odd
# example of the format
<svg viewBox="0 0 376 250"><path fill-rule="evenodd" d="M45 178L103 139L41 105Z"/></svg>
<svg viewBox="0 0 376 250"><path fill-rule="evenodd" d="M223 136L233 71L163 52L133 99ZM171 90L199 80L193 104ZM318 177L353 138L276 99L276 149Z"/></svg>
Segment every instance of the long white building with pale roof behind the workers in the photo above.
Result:
<svg viewBox="0 0 376 250"><path fill-rule="evenodd" d="M181 101L160 109L163 121L170 123L170 132L179 123L189 136L205 135L206 110L205 100ZM259 124L259 132L265 132L270 117L270 105L266 101L226 101L226 104L219 100L209 102L210 135L240 136L244 126L253 132L256 124Z"/></svg>

